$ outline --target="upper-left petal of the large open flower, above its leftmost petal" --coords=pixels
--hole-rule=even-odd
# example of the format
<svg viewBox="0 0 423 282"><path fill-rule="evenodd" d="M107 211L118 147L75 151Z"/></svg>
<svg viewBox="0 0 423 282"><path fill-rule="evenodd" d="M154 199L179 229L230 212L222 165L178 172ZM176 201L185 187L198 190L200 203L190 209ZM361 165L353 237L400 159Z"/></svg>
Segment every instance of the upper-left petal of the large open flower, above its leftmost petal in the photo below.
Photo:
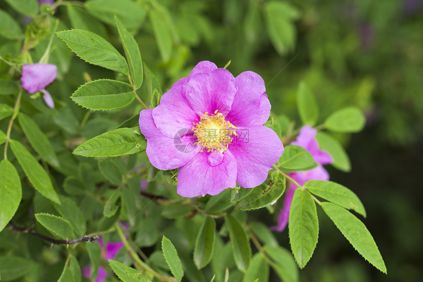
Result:
<svg viewBox="0 0 423 282"><path fill-rule="evenodd" d="M192 123L200 120L185 98L185 88L172 87L161 97L160 105L152 109L155 125L167 137L175 138L181 129L191 130Z"/></svg>

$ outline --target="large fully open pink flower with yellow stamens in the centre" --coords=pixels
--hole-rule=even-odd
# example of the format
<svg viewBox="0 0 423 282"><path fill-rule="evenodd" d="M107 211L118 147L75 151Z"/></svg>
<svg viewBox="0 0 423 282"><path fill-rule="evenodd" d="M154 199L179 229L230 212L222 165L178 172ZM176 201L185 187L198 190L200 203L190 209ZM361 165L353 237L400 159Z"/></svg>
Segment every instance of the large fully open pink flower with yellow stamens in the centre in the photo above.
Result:
<svg viewBox="0 0 423 282"><path fill-rule="evenodd" d="M283 152L277 134L263 125L271 108L265 90L252 71L234 78L214 63L198 63L159 106L141 111L151 164L179 167L177 191L184 197L260 185Z"/></svg>

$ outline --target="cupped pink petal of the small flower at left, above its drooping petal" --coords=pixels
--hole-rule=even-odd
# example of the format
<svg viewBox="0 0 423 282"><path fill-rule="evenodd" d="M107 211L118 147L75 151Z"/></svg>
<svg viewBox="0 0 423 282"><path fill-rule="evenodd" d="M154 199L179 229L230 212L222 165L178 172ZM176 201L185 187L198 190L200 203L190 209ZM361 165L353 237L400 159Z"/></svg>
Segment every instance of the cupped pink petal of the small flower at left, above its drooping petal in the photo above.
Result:
<svg viewBox="0 0 423 282"><path fill-rule="evenodd" d="M29 93L40 91L55 80L57 66L49 63L32 63L22 66L22 87Z"/></svg>

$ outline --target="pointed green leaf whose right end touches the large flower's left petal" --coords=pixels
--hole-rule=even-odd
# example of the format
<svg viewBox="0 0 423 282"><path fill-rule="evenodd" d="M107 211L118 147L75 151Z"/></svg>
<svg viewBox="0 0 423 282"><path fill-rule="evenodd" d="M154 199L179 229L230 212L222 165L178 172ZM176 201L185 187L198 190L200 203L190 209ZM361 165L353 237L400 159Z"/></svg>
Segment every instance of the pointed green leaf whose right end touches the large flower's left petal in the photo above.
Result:
<svg viewBox="0 0 423 282"><path fill-rule="evenodd" d="M145 151L147 140L140 127L118 128L79 145L73 154L83 157L119 157Z"/></svg>

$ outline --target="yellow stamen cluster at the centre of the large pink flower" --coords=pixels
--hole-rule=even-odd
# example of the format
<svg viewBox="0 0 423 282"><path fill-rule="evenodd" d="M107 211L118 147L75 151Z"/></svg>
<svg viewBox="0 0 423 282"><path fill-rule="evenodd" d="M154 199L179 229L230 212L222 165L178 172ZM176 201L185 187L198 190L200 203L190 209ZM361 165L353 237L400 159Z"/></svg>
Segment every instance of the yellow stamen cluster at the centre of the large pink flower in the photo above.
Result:
<svg viewBox="0 0 423 282"><path fill-rule="evenodd" d="M195 127L191 131L194 131L194 135L197 136L197 142L194 144L200 144L203 149L207 149L207 152L216 150L223 153L233 140L231 135L237 135L234 131L237 127L225 121L223 115L217 110L210 116L208 112L205 112L200 117L199 123L192 124ZM203 152L203 149L200 152Z"/></svg>

